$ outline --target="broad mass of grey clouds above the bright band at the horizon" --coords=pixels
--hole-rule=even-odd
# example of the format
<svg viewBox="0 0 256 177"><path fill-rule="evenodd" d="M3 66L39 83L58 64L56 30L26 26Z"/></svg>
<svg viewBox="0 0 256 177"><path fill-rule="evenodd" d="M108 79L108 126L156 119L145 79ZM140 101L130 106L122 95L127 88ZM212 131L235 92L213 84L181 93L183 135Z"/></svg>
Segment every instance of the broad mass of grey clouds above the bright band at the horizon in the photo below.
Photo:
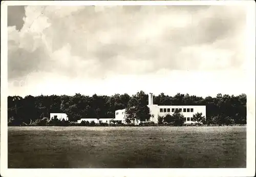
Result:
<svg viewBox="0 0 256 177"><path fill-rule="evenodd" d="M11 18L14 9L8 11ZM33 72L102 78L239 69L245 12L238 6L27 6L20 31L9 23L8 79Z"/></svg>

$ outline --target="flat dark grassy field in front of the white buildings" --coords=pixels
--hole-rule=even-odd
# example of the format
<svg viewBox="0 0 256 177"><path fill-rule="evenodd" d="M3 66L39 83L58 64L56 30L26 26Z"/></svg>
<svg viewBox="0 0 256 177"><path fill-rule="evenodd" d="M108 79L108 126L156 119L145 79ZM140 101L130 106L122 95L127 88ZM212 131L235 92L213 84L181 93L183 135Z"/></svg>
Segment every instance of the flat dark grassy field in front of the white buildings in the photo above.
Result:
<svg viewBox="0 0 256 177"><path fill-rule="evenodd" d="M8 168L246 167L246 127L8 127Z"/></svg>

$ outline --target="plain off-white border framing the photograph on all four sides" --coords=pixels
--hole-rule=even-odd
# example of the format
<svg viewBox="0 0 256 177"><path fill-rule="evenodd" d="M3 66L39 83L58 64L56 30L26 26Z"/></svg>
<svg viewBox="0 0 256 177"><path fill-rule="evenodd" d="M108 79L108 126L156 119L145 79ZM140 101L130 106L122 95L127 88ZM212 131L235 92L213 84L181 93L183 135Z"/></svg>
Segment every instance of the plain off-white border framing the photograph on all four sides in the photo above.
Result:
<svg viewBox="0 0 256 177"><path fill-rule="evenodd" d="M204 169L8 169L7 6L14 5L246 5L247 168ZM2 1L1 2L1 176L254 176L255 174L255 2L254 1Z"/></svg>

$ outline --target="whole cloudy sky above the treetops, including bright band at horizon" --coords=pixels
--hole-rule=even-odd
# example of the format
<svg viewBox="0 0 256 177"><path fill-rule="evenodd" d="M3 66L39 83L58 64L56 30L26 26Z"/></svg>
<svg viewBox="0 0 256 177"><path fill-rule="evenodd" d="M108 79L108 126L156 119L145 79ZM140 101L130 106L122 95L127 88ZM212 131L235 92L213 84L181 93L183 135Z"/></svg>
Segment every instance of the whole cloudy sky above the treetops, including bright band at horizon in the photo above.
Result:
<svg viewBox="0 0 256 177"><path fill-rule="evenodd" d="M9 95L245 93L243 6L9 6Z"/></svg>

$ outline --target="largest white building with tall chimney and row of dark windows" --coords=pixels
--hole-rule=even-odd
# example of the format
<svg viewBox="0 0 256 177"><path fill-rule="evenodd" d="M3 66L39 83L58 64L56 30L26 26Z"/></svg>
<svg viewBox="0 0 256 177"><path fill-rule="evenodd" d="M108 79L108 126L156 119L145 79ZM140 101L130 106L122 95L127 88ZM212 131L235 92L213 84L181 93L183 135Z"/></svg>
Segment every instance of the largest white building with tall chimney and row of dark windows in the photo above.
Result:
<svg viewBox="0 0 256 177"><path fill-rule="evenodd" d="M202 113L202 116L206 117L206 106L195 106L195 105L157 105L153 104L153 94L148 95L148 105L150 112L153 115L150 118L150 121L157 123L158 116L165 116L167 114L172 115L175 110L179 110L181 114L185 117L184 123L195 123L192 120L193 115L196 113ZM119 109L115 112L115 120L120 120L122 123L125 123L125 109Z"/></svg>

